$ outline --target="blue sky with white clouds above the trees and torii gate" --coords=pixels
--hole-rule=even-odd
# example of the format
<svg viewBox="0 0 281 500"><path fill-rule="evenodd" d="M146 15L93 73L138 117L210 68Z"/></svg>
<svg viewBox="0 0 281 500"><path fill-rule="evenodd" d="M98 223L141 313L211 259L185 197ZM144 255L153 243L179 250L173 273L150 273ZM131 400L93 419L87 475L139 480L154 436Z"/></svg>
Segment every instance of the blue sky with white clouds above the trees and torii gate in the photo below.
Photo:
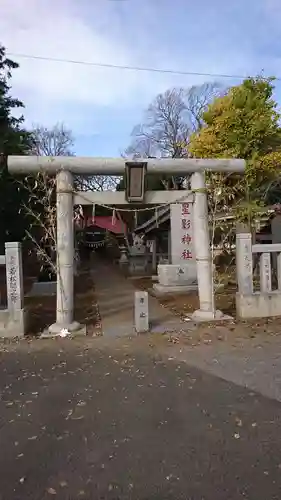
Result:
<svg viewBox="0 0 281 500"><path fill-rule="evenodd" d="M17 54L281 76L280 26L280 0L1 0L0 41ZM214 80L14 59L27 126L64 122L85 156L119 156L159 92Z"/></svg>

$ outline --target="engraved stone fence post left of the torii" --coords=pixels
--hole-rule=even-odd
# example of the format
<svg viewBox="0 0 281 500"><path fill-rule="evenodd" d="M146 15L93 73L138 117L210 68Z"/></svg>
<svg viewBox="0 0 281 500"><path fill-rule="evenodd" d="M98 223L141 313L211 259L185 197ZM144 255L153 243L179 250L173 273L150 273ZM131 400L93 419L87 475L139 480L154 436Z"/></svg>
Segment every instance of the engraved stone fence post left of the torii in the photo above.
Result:
<svg viewBox="0 0 281 500"><path fill-rule="evenodd" d="M22 337L26 315L23 308L23 272L21 244L5 243L0 265L6 266L7 308L0 309L0 337Z"/></svg>

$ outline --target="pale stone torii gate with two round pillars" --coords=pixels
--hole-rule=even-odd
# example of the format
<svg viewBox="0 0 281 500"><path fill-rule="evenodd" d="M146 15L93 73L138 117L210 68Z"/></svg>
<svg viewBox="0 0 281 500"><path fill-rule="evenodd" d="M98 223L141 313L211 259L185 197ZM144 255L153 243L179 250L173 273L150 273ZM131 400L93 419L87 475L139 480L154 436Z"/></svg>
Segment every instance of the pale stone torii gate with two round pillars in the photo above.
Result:
<svg viewBox="0 0 281 500"><path fill-rule="evenodd" d="M36 174L44 171L56 175L57 187L57 308L56 322L49 327L51 334L62 329L78 331L81 326L73 318L73 283L74 283L74 224L73 206L81 204L83 197L88 202L103 204L125 204L122 192L81 192L74 193L73 175L124 175L123 158L87 158L87 157L48 157L48 156L9 156L8 169L11 174ZM148 174L170 174L174 176L191 175L193 201L193 243L197 267L198 294L200 309L195 317L210 321L218 317L213 293L213 271L209 238L208 204L205 189L205 171L243 172L245 161L241 159L139 159L134 163L146 163ZM146 192L144 203L172 203L190 191ZM177 197L177 198L176 198ZM83 202L82 202L83 203ZM84 201L85 204L85 201Z"/></svg>

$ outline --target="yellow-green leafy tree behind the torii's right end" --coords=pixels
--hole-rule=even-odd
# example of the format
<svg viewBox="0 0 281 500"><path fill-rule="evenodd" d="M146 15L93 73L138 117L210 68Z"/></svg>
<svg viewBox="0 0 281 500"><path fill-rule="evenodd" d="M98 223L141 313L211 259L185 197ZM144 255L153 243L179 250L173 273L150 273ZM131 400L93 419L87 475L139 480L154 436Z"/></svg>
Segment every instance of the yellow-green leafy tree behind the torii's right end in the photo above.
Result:
<svg viewBox="0 0 281 500"><path fill-rule="evenodd" d="M255 77L230 88L208 106L204 126L190 138L189 151L195 157L247 160L243 177L208 175L212 206L225 211L236 207L242 218L270 203L273 191L275 198L281 193L280 114L273 82L274 78Z"/></svg>

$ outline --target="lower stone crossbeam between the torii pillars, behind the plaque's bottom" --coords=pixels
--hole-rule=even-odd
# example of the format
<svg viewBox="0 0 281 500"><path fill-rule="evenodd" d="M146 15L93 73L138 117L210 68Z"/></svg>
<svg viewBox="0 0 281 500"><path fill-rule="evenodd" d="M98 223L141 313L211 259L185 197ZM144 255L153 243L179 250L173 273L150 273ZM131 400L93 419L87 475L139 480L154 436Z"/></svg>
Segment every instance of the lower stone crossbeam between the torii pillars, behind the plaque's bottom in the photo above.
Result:
<svg viewBox="0 0 281 500"><path fill-rule="evenodd" d="M175 203L177 201L193 202L193 193L191 191L147 191L142 205L165 205L166 203ZM74 205L130 205L141 206L140 203L128 203L124 191L79 191L74 196Z"/></svg>

